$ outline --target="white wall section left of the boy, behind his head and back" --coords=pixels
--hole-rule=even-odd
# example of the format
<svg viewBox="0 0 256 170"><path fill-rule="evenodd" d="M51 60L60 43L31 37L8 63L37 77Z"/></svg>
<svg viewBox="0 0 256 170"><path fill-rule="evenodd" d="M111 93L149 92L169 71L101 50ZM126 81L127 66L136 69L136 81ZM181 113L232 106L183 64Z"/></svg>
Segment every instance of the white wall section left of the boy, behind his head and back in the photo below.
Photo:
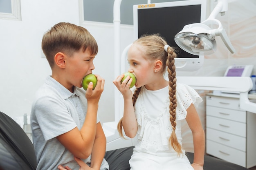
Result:
<svg viewBox="0 0 256 170"><path fill-rule="evenodd" d="M79 24L76 1L20 0L20 5L22 21L0 19L0 111L11 117L30 114L34 93L51 74L41 58L43 33L57 22Z"/></svg>

